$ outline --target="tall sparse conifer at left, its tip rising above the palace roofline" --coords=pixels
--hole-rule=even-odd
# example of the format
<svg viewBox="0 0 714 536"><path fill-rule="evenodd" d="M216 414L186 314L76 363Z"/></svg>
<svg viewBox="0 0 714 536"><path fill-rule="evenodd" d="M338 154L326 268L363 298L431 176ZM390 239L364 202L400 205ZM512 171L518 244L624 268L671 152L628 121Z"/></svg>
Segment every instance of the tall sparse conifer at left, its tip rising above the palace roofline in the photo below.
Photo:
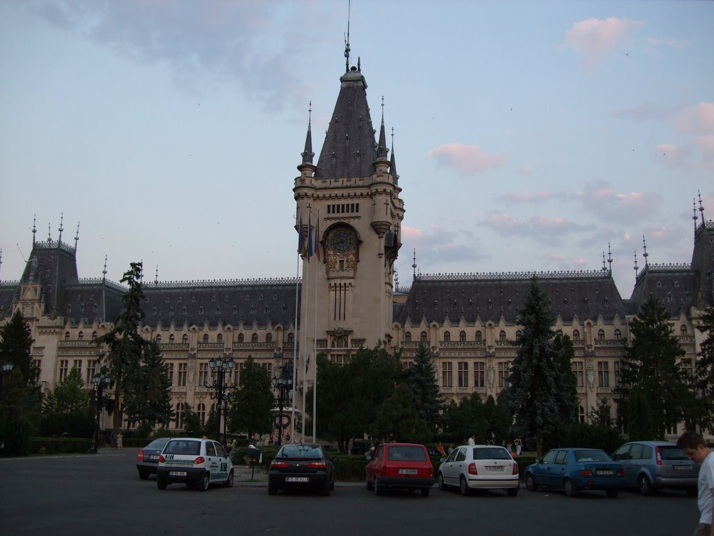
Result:
<svg viewBox="0 0 714 536"><path fill-rule="evenodd" d="M107 352L101 359L111 378L114 387L114 432L121 429L124 411L128 415L136 415L138 408L136 400L141 392L141 361L144 349L149 344L141 337L141 323L144 320L144 310L141 309L141 300L144 292L141 290L141 262L129 264L129 270L124 272L121 282L129 287L122 298L124 307L116 319L114 327L109 332L97 337L96 342L106 345Z"/></svg>

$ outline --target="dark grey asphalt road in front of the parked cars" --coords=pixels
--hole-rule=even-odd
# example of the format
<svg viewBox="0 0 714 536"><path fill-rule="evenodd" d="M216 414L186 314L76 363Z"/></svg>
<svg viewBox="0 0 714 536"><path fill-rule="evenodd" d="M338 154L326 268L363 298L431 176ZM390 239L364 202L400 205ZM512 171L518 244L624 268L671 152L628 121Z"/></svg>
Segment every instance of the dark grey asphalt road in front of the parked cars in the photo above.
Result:
<svg viewBox="0 0 714 536"><path fill-rule="evenodd" d="M433 488L376 497L363 485L337 483L330 497L268 497L266 484L238 482L199 492L159 491L139 480L136 450L99 455L0 459L0 532L34 535L570 535L689 536L695 497L603 492L565 497L528 492L461 497Z"/></svg>

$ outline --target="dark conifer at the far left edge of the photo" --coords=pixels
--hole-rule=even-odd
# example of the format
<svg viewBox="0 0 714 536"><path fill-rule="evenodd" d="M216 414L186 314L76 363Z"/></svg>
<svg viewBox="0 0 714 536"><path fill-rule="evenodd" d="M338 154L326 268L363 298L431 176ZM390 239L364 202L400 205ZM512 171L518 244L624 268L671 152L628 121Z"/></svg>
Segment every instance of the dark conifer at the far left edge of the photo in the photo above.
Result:
<svg viewBox="0 0 714 536"><path fill-rule="evenodd" d="M0 329L0 364L12 364L0 372L0 443L10 455L29 452L30 437L40 423L41 395L35 385L31 329L19 311Z"/></svg>

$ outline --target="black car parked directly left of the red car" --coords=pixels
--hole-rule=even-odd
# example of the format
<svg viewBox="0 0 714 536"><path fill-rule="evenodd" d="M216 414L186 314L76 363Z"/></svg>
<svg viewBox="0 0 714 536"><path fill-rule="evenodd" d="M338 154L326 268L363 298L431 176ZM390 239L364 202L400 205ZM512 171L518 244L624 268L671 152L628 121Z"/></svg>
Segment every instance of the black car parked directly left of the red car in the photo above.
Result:
<svg viewBox="0 0 714 536"><path fill-rule="evenodd" d="M335 489L335 460L320 445L283 445L268 469L268 495L286 489L330 495Z"/></svg>

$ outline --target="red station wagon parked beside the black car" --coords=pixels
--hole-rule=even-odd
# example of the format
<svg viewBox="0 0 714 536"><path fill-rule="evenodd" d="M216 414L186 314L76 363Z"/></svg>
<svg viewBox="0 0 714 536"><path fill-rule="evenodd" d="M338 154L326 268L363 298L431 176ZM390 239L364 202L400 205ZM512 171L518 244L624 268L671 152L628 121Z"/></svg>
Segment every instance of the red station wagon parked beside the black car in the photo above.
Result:
<svg viewBox="0 0 714 536"><path fill-rule="evenodd" d="M378 445L366 467L367 489L382 495L385 490L421 490L427 497L434 485L434 468L424 445L386 443Z"/></svg>

